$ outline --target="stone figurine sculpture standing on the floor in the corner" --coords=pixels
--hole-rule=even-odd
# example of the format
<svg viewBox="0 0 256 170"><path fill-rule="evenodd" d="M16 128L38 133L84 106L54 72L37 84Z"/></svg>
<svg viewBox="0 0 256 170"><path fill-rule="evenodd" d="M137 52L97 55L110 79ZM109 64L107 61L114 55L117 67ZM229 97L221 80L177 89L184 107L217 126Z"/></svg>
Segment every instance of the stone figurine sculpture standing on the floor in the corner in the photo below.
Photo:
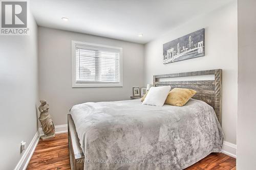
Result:
<svg viewBox="0 0 256 170"><path fill-rule="evenodd" d="M42 135L40 138L42 140L47 140L55 137L55 130L52 122L52 117L48 113L49 105L45 100L41 100L40 103L41 105L38 107L40 112L40 117L38 119L41 123L42 131L44 131L44 134L45 134L45 135Z"/></svg>

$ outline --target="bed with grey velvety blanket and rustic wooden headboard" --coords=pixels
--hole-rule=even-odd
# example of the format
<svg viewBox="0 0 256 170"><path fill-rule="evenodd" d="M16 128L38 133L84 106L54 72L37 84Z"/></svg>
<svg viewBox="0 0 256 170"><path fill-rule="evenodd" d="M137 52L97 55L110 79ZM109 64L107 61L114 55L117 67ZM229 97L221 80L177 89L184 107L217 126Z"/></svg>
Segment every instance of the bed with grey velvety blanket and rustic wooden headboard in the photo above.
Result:
<svg viewBox="0 0 256 170"><path fill-rule="evenodd" d="M214 75L214 80L160 81ZM156 75L154 86L195 89L183 107L140 100L84 103L68 114L71 169L184 169L221 152L222 70Z"/></svg>

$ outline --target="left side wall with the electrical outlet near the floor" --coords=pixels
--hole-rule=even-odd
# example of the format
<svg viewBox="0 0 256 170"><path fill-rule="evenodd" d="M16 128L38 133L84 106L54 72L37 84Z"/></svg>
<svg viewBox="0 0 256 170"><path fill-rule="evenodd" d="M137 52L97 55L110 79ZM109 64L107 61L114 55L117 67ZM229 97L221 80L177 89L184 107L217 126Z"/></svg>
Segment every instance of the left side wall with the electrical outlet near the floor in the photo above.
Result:
<svg viewBox="0 0 256 170"><path fill-rule="evenodd" d="M14 169L37 131L37 25L29 14L29 36L0 36L0 169Z"/></svg>

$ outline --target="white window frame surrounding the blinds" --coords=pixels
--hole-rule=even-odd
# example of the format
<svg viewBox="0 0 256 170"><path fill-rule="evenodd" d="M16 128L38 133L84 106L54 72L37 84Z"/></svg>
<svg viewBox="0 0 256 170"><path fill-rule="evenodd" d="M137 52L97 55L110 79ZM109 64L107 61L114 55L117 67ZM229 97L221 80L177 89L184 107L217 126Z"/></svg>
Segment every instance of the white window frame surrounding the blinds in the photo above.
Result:
<svg viewBox="0 0 256 170"><path fill-rule="evenodd" d="M123 86L123 57L122 47L95 44L89 42L81 42L72 40L72 87L122 87ZM113 48L119 50L119 82L77 82L76 81L76 45L93 45L105 48Z"/></svg>

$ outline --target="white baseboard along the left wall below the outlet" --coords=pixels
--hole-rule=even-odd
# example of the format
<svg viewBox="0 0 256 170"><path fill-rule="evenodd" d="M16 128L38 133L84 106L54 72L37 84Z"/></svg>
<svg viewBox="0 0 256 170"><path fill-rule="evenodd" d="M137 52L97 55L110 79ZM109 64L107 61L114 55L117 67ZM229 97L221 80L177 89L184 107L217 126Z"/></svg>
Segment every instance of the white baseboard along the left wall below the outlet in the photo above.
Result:
<svg viewBox="0 0 256 170"><path fill-rule="evenodd" d="M22 158L20 158L14 170L25 170L27 168L29 161L35 151L38 141L39 141L39 131L36 132L35 136L33 137L32 141L29 143L28 148L26 149Z"/></svg>

